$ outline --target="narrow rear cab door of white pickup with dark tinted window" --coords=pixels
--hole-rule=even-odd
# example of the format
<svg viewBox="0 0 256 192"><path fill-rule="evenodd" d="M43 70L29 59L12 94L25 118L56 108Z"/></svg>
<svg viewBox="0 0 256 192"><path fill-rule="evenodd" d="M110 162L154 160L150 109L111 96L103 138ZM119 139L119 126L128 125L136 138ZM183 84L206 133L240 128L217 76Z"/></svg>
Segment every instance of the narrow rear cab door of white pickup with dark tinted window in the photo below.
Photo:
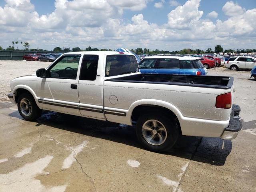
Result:
<svg viewBox="0 0 256 192"><path fill-rule="evenodd" d="M104 61L98 55L84 55L78 83L79 109L83 116L105 119L103 114L103 77L98 63ZM102 69L99 67L99 70ZM103 71L103 70L102 70Z"/></svg>

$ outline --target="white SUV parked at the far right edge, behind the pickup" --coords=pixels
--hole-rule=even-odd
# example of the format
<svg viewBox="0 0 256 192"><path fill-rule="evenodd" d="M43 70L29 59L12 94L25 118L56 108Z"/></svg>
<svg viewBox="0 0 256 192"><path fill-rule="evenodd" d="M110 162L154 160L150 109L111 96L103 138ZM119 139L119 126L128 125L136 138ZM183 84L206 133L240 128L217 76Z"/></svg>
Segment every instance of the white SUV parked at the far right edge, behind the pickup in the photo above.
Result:
<svg viewBox="0 0 256 192"><path fill-rule="evenodd" d="M235 71L238 69L252 69L256 66L256 58L250 56L230 57L224 67Z"/></svg>

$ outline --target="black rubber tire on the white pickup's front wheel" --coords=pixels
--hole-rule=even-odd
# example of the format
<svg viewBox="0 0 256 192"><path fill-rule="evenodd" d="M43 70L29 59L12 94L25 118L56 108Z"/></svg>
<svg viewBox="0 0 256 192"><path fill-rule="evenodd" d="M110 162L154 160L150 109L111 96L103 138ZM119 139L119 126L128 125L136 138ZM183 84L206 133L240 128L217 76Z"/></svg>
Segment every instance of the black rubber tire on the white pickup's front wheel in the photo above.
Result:
<svg viewBox="0 0 256 192"><path fill-rule="evenodd" d="M22 112L22 108L25 107L23 105L24 101L26 101L27 103L29 102L29 104L30 104L29 108L30 108L31 112L28 113L27 115L24 114L25 112ZM28 93L21 94L18 98L17 105L18 105L18 111L19 111L20 115L22 116L22 118L24 118L24 120L27 120L27 121L36 120L42 114L42 110L40 108L38 108L38 106L34 100L34 97L31 94L28 94Z"/></svg>

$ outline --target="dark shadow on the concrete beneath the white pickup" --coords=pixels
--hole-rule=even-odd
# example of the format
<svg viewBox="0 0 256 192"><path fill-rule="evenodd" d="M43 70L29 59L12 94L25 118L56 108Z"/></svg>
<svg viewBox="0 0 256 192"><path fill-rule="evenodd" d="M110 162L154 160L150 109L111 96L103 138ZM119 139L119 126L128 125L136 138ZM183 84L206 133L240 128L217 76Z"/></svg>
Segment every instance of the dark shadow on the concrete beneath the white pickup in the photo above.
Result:
<svg viewBox="0 0 256 192"><path fill-rule="evenodd" d="M21 118L18 111L9 115L12 117ZM36 126L46 125L145 150L137 141L134 126L127 126L123 124L49 111L43 111L42 116L36 120L36 122L38 123ZM223 142L224 147L222 147ZM230 140L181 136L172 150L165 152L164 154L216 166L222 166L225 164L226 158L230 154L231 150L232 142Z"/></svg>

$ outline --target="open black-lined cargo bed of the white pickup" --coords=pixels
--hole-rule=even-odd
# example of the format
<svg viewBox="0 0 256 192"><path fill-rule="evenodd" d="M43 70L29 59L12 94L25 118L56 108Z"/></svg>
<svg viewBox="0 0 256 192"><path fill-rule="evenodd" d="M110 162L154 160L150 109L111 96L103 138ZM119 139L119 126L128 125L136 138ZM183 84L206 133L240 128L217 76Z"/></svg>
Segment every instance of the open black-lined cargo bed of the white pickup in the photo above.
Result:
<svg viewBox="0 0 256 192"><path fill-rule="evenodd" d="M233 85L234 78L225 76L196 76L183 74L136 74L132 76L112 78L106 81L230 89Z"/></svg>

